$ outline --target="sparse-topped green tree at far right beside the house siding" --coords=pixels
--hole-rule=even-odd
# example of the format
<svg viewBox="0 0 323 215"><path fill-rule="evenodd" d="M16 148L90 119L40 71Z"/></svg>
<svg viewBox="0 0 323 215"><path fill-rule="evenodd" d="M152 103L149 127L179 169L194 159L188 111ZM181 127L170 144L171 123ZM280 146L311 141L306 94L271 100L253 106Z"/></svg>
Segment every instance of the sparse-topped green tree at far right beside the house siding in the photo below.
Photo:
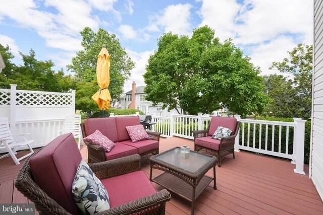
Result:
<svg viewBox="0 0 323 215"><path fill-rule="evenodd" d="M277 89L268 91L268 96L274 101L271 102L270 108L285 110L273 112L272 115L307 120L311 117L312 104L312 46L298 44L292 51L288 51L288 54L289 57L284 58L282 62L273 62L270 67L291 75L290 79L285 78L283 82L279 83L276 80ZM288 100L283 98L286 97L286 88L289 89ZM281 102L278 102L279 100Z"/></svg>

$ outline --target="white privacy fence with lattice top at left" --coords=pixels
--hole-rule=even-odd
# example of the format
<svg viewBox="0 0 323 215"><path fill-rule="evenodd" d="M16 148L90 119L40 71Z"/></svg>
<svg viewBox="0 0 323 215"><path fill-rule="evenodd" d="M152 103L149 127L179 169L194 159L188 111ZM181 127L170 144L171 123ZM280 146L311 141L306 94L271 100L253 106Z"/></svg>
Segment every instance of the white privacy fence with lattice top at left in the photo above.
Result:
<svg viewBox="0 0 323 215"><path fill-rule="evenodd" d="M64 128L65 116L75 114L75 90L53 93L16 87L0 89L0 117L8 117L12 133L30 133L33 148L47 145Z"/></svg>

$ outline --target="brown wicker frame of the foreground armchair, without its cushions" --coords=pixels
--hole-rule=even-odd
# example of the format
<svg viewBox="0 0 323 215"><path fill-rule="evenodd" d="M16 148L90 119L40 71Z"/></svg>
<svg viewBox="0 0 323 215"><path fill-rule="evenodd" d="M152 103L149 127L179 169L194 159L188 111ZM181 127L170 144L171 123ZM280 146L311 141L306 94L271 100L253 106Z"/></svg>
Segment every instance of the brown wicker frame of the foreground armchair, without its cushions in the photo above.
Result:
<svg viewBox="0 0 323 215"><path fill-rule="evenodd" d="M15 182L17 189L35 203L35 207L40 214L71 214L55 200L50 198L36 184L29 166L29 159L31 157L27 159L18 174ZM89 166L100 180L141 169L139 155L128 156L103 163L89 164ZM169 201L170 198L170 193L166 189L163 189L155 194L112 207L96 214L165 214L166 201Z"/></svg>

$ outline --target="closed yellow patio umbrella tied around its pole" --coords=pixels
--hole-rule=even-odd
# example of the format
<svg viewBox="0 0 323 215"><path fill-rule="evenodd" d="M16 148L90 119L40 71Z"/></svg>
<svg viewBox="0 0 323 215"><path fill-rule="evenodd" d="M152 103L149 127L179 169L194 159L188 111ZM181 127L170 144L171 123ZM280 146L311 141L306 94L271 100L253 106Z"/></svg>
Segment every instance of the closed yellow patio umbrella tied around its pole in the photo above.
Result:
<svg viewBox="0 0 323 215"><path fill-rule="evenodd" d="M102 49L97 55L96 78L100 90L92 96L92 99L99 106L100 110L107 110L110 108L110 101L112 99L109 89L107 89L110 84L110 54L106 50L105 45L102 45Z"/></svg>

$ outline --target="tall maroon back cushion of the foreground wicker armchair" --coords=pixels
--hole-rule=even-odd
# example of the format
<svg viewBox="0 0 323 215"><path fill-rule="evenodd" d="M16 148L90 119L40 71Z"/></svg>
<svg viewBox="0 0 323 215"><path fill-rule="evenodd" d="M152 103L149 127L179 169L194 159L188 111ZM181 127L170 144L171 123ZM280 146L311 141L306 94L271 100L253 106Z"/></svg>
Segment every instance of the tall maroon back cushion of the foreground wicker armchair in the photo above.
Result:
<svg viewBox="0 0 323 215"><path fill-rule="evenodd" d="M73 214L80 213L72 196L72 183L82 160L72 133L52 140L29 160L38 186Z"/></svg>

